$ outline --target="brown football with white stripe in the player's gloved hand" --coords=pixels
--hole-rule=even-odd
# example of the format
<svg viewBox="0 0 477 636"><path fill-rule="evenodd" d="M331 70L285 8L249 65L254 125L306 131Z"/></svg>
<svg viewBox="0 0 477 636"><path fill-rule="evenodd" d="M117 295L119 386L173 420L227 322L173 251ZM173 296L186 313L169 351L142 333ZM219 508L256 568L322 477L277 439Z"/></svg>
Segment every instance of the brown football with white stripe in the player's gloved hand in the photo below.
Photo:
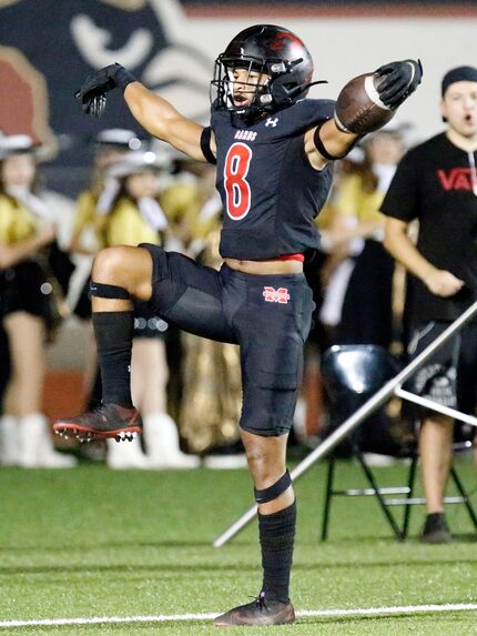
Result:
<svg viewBox="0 0 477 636"><path fill-rule="evenodd" d="M335 122L339 130L366 134L393 119L395 110L386 107L377 92L384 79L384 75L366 73L354 78L342 89L335 107Z"/></svg>

